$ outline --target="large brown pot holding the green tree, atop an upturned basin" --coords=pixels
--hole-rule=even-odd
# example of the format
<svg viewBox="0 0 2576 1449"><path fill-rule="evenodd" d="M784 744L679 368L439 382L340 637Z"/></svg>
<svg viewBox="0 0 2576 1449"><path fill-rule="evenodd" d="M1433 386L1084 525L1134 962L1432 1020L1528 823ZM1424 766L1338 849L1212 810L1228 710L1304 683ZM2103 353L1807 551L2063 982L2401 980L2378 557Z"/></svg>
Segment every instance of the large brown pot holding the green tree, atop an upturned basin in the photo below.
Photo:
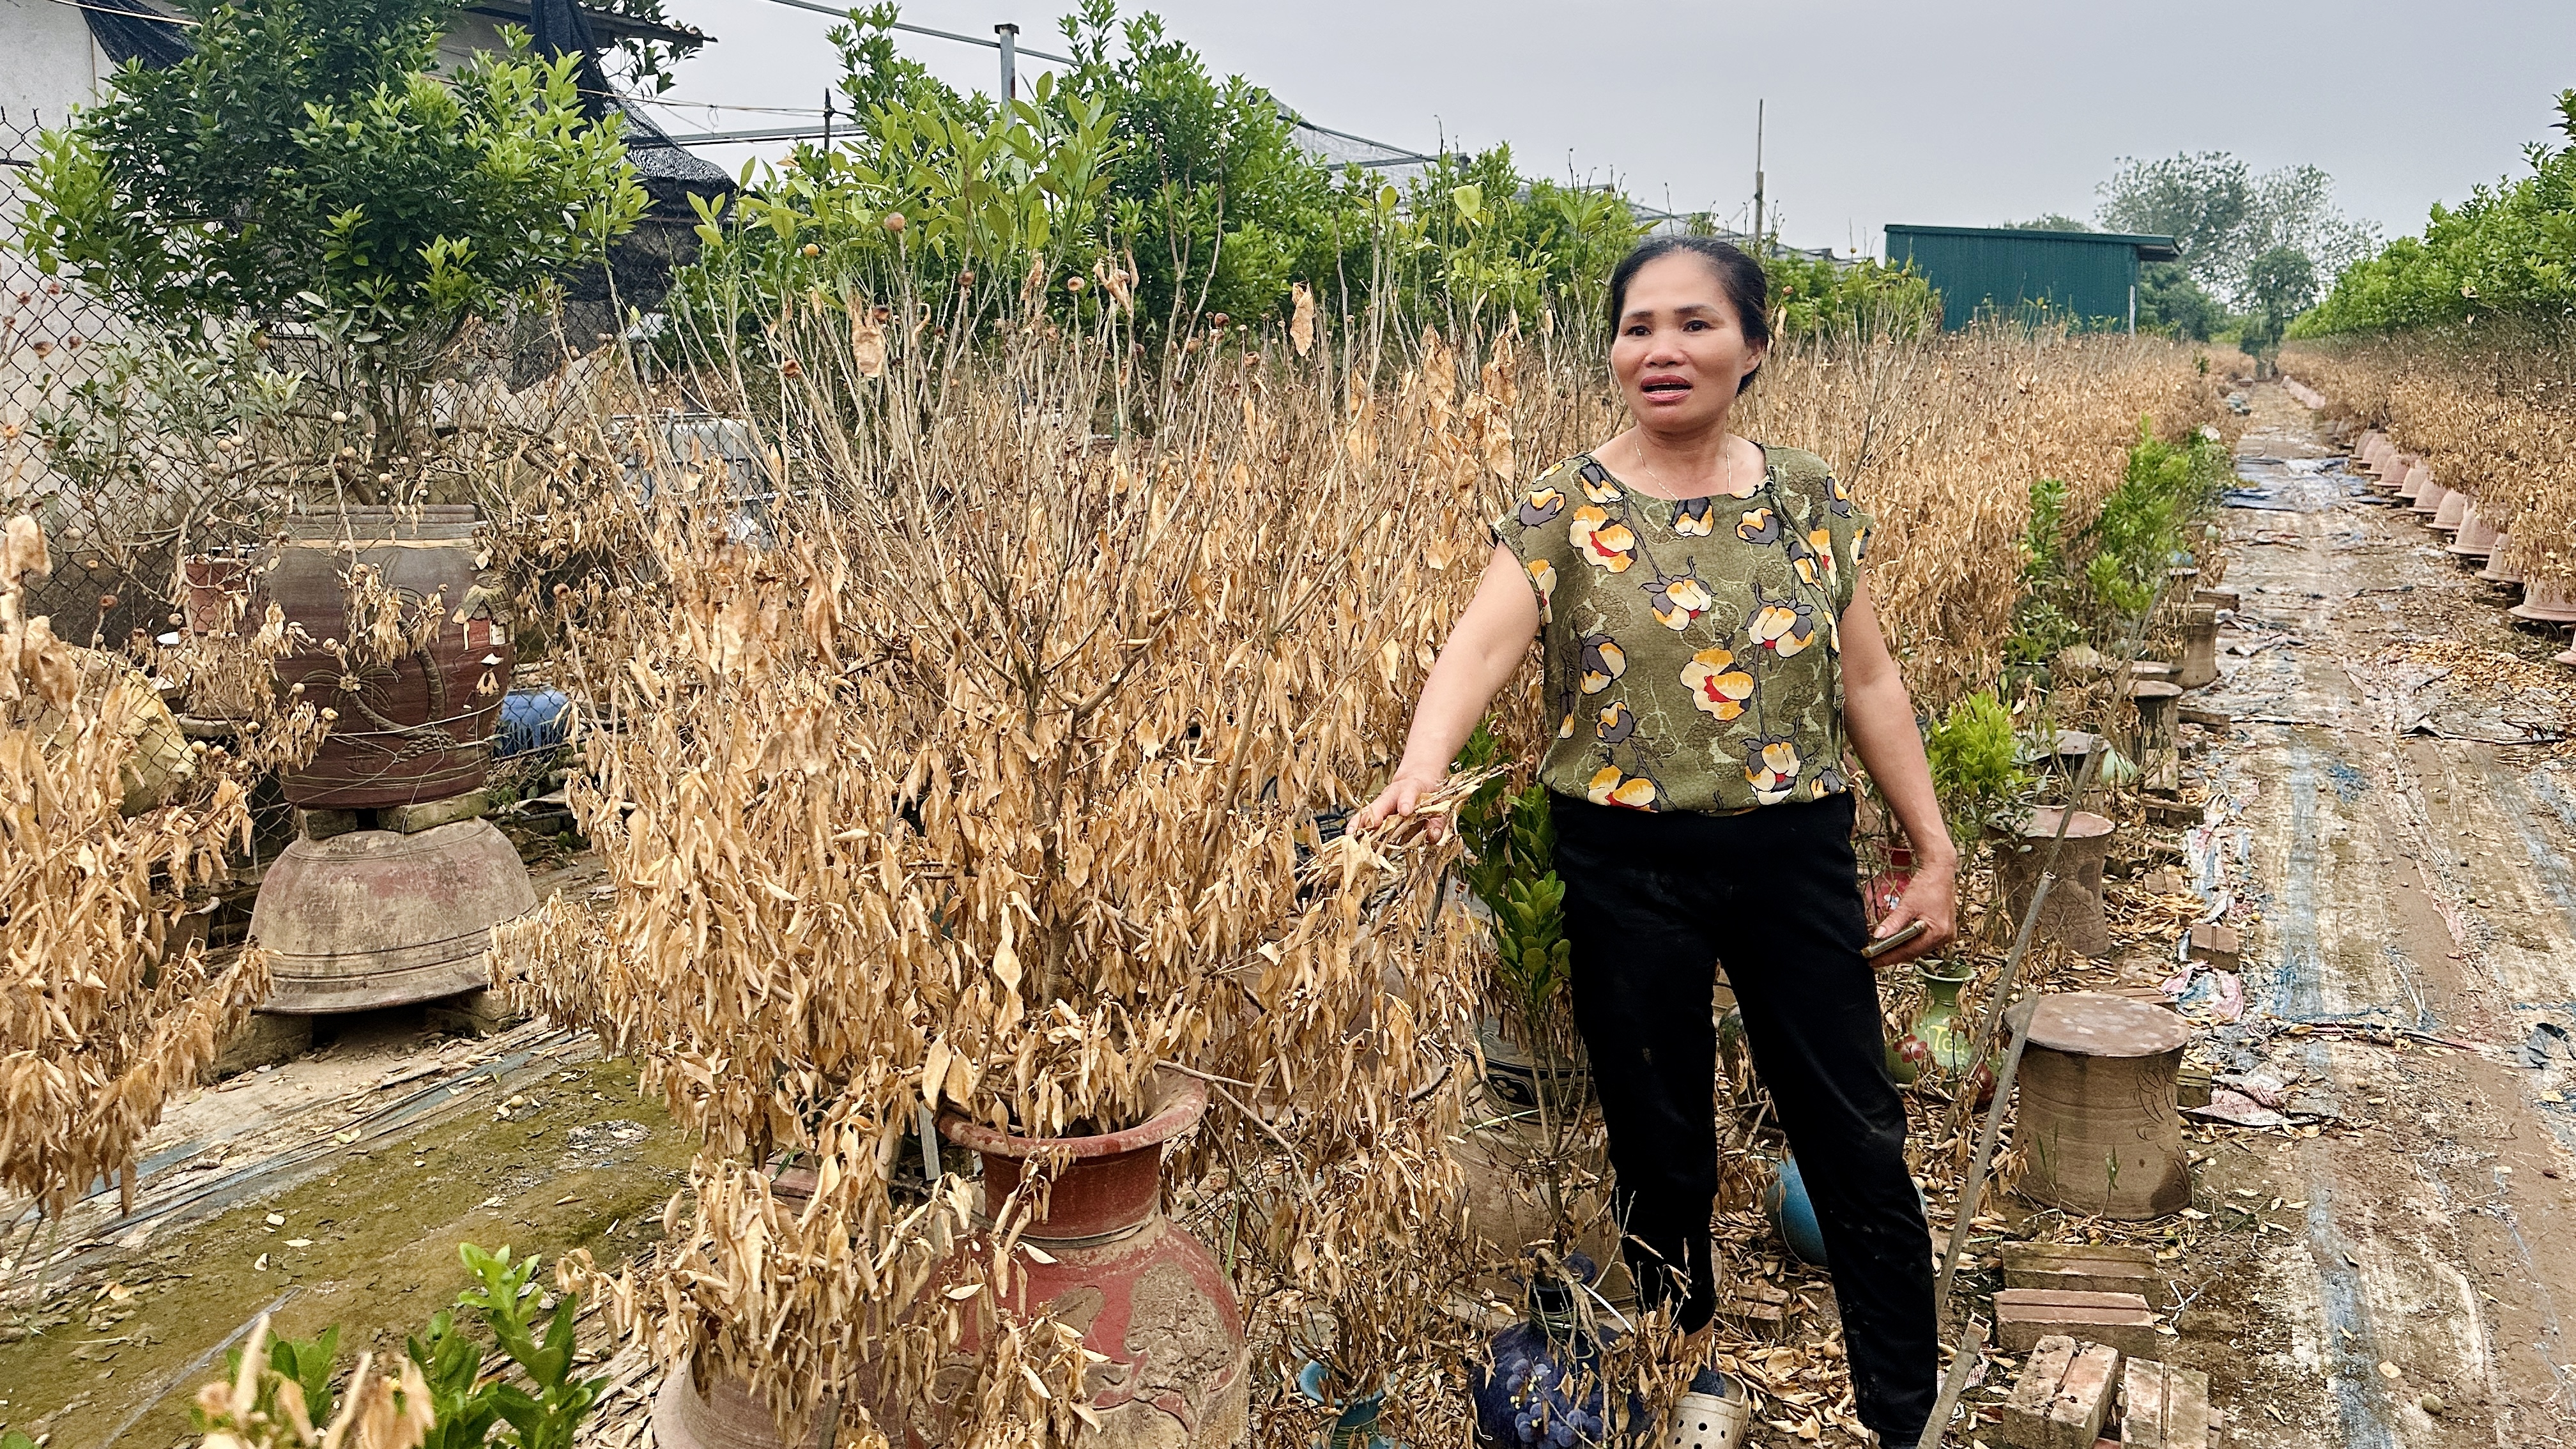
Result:
<svg viewBox="0 0 2576 1449"><path fill-rule="evenodd" d="M252 611L276 603L312 639L276 663L278 688L301 683L304 699L335 709L330 737L299 771L286 771L286 799L304 810L376 810L446 799L484 784L484 740L510 686L510 632L469 598L477 585L474 508L348 508L286 523ZM438 596L438 634L412 655L345 670L322 650L348 639L348 578L355 565L381 570L407 606ZM469 608L461 624L453 616Z"/></svg>

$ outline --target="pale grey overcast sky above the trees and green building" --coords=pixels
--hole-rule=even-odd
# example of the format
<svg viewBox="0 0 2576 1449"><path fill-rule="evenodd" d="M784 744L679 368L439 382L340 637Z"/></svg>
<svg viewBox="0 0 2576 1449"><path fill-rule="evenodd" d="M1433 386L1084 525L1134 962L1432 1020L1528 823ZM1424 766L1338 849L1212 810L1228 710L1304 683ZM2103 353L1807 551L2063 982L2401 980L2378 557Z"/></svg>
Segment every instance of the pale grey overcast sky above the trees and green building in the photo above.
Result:
<svg viewBox="0 0 2576 1449"><path fill-rule="evenodd" d="M914 0L904 21L1064 52L1028 0ZM1131 10L1146 5L1131 5ZM819 108L827 15L775 0L667 0L716 36L667 101ZM2576 85L2576 3L2066 0L1844 5L1540 5L1533 0L1162 0L1218 75L1309 121L1406 147L1510 142L1525 173L1618 175L1633 196L1741 219L1754 101L1783 240L1883 250L1888 222L2089 217L2123 155L2228 150L2326 168L2383 235L2478 180L2522 173ZM997 57L930 36L907 54L994 90ZM1041 62L1025 62L1036 67ZM1025 83L1028 70L1023 70ZM796 124L657 111L670 129ZM757 147L781 150L781 147ZM747 150L708 152L739 162Z"/></svg>

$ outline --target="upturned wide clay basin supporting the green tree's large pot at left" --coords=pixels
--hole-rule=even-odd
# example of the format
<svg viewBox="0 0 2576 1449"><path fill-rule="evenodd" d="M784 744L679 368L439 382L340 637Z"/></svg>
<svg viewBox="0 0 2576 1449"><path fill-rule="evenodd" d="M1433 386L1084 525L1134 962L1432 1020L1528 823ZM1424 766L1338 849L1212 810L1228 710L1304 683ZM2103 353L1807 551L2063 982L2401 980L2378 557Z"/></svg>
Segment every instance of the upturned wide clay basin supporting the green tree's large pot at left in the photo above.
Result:
<svg viewBox="0 0 2576 1449"><path fill-rule="evenodd" d="M270 951L260 1011L363 1011L489 985L492 926L536 887L489 820L286 846L260 879L250 936Z"/></svg>

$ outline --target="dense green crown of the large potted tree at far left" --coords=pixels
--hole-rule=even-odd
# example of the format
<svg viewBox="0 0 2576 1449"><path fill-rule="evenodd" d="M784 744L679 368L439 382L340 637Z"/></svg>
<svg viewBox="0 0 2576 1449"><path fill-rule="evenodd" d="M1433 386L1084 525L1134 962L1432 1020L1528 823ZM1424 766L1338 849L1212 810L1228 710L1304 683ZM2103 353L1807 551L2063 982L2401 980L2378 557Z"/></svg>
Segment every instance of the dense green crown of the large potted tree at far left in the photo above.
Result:
<svg viewBox="0 0 2576 1449"><path fill-rule="evenodd" d="M644 214L574 59L523 34L435 75L459 0L178 0L193 52L126 67L44 137L18 248L180 343L250 322L309 348L374 451L428 428L474 320L546 294Z"/></svg>

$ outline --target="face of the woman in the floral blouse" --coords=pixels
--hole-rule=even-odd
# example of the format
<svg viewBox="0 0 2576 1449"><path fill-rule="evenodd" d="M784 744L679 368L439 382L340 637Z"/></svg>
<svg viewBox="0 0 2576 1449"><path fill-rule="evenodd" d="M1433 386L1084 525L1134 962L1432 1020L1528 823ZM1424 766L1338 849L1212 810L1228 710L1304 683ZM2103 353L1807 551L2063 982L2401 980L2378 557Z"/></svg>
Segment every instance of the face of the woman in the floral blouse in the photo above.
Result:
<svg viewBox="0 0 2576 1449"><path fill-rule="evenodd" d="M1762 366L1708 258L1672 253L1636 268L1610 340L1628 413L1654 433L1716 425L1744 374Z"/></svg>

